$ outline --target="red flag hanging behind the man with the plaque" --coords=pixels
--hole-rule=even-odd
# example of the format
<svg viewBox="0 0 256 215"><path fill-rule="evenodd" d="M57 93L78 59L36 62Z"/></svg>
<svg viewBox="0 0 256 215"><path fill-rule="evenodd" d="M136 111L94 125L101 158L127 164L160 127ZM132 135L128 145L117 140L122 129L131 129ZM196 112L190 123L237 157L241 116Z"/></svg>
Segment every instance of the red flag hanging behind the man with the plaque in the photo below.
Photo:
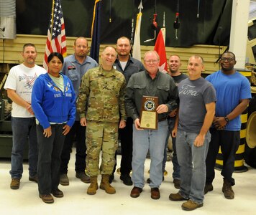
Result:
<svg viewBox="0 0 256 215"><path fill-rule="evenodd" d="M167 59L166 59L166 52L165 52L165 42L164 42L163 33L161 30L158 33L154 50L157 52L157 54L160 57L159 71L168 73Z"/></svg>

